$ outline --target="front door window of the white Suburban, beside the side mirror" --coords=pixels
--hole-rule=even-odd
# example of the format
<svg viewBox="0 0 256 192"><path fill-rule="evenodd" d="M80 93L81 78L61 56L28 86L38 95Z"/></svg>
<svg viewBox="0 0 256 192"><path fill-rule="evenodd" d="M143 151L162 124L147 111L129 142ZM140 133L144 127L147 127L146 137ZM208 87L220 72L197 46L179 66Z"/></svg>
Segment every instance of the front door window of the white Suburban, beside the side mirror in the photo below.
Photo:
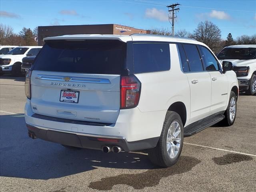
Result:
<svg viewBox="0 0 256 192"><path fill-rule="evenodd" d="M218 61L215 59L215 57L212 55L212 53L206 48L201 46L204 62L206 65L207 71L216 71L220 70Z"/></svg>

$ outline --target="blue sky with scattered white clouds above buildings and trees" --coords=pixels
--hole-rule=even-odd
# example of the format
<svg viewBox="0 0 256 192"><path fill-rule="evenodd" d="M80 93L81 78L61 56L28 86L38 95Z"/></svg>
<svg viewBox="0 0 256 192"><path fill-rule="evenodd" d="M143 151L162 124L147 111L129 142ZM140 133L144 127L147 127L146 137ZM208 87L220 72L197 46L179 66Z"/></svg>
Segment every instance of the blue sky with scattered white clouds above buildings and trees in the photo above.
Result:
<svg viewBox="0 0 256 192"><path fill-rule="evenodd" d="M216 24L225 39L256 34L256 0L1 0L0 22L18 33L23 27L121 24L134 28L170 28L167 5L179 3L175 31L192 32L199 22Z"/></svg>

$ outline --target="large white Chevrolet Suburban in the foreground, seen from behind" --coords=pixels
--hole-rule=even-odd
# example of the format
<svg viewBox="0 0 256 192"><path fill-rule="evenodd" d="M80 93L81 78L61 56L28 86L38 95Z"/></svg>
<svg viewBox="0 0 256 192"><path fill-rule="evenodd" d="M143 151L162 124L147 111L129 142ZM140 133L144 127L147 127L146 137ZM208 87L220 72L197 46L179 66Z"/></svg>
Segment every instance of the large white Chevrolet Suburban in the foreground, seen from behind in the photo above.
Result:
<svg viewBox="0 0 256 192"><path fill-rule="evenodd" d="M26 74L28 136L178 161L183 137L236 118L238 82L203 43L146 34L65 35ZM229 71L227 71L229 70Z"/></svg>

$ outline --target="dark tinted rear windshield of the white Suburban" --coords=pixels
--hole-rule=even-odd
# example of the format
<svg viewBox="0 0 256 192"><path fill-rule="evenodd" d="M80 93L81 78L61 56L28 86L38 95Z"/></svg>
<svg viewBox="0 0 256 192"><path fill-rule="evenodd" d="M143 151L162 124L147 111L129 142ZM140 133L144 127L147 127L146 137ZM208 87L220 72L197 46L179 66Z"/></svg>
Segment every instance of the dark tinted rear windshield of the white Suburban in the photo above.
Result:
<svg viewBox="0 0 256 192"><path fill-rule="evenodd" d="M34 62L33 70L122 74L125 43L118 40L46 42Z"/></svg>

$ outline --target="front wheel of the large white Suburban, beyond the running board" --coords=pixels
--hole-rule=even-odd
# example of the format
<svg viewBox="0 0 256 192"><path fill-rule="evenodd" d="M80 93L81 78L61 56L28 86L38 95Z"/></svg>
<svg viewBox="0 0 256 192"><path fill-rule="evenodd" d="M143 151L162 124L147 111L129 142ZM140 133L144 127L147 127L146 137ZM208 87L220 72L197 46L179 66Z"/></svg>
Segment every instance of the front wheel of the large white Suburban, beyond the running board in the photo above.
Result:
<svg viewBox="0 0 256 192"><path fill-rule="evenodd" d="M232 105L231 105L231 101L232 101ZM230 108L230 105L232 106L232 108ZM228 101L228 108L226 109L224 115L225 115L225 118L224 120L222 121L223 125L224 126L232 126L235 122L235 119L236 119L236 110L237 108L237 104L236 104L236 94L231 91L230 92L230 98L229 98L229 101ZM232 110L234 112L234 116L230 116L230 110Z"/></svg>

